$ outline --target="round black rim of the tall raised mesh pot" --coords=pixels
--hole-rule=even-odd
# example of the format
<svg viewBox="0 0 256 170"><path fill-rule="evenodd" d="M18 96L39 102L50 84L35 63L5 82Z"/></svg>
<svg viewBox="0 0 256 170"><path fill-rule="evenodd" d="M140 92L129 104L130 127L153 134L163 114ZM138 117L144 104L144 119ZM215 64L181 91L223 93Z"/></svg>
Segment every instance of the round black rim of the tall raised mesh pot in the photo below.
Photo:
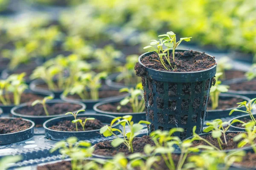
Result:
<svg viewBox="0 0 256 170"><path fill-rule="evenodd" d="M189 50L179 50L177 49L176 52L183 52L183 51L189 51ZM154 51L153 51L154 52ZM213 68L216 68L217 67L217 62L216 62L216 59L213 58L211 55L207 54L209 57L212 57L214 60L215 60L215 65L208 68L208 69L205 69L205 70L201 70L201 71L189 71L189 72L172 72L172 71L162 71L162 70L156 70L156 69L153 69L153 68L148 68L146 67L142 62L141 62L141 58L145 56L145 54L149 54L149 53L153 53L153 52L146 52L146 53L143 53L140 55L138 61L140 63L140 65L143 65L143 67L147 68L148 70L151 70L151 71L157 71L157 72L161 72L161 73L171 73L171 74L194 74L194 73L202 73L202 72L205 72L205 71L209 71L209 70L212 70ZM195 51L195 52L199 52L199 53L202 53L200 51ZM206 53L205 53L206 54Z"/></svg>

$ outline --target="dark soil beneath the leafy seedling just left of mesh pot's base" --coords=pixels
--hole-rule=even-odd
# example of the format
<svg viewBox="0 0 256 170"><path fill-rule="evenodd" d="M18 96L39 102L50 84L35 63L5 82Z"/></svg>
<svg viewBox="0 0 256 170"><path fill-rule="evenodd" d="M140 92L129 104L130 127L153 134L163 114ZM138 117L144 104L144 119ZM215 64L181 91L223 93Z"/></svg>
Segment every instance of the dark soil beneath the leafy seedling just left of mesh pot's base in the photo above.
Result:
<svg viewBox="0 0 256 170"><path fill-rule="evenodd" d="M146 144L154 146L154 142L151 140L150 136L143 136L141 138L135 138L132 142L134 153L140 152L143 153L143 148ZM94 154L102 156L114 156L117 153L124 153L126 156L131 154L125 144L120 144L118 147L113 147L111 141L99 142L95 145Z"/></svg>

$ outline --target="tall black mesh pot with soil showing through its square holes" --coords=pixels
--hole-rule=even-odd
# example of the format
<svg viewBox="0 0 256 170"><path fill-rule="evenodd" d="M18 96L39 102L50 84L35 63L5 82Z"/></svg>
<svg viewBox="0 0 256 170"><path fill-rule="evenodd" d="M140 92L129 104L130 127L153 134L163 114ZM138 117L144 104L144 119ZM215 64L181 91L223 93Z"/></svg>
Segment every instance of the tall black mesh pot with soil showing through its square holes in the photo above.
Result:
<svg viewBox="0 0 256 170"><path fill-rule="evenodd" d="M143 68L136 70L137 76L142 78L146 120L151 122L149 132L182 127L185 131L175 136L185 139L192 136L192 129L197 126L197 133L202 133L216 65L195 72L159 71L141 62L150 54L152 52L142 54L136 65Z"/></svg>

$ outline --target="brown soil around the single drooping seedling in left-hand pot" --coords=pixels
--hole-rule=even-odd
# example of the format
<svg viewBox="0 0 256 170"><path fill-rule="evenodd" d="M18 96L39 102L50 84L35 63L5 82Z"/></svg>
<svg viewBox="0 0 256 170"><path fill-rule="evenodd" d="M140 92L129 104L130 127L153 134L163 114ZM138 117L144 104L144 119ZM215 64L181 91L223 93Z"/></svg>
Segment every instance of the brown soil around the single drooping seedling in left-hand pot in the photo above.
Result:
<svg viewBox="0 0 256 170"><path fill-rule="evenodd" d="M81 105L76 105L72 103L54 103L54 104L47 104L47 111L49 115L58 115L58 114L65 114L67 112L73 112L81 109ZM31 116L46 116L44 112L43 105L37 104L35 106L26 106L22 108L18 108L15 110L16 113L23 114L23 115L31 115Z"/></svg>

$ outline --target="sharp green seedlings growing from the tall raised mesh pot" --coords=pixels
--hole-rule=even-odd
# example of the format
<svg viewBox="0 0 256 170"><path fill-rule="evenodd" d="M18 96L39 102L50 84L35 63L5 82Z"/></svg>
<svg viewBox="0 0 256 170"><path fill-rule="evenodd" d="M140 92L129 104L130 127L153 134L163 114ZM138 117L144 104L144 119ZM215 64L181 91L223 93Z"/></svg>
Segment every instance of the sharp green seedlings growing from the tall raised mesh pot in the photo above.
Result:
<svg viewBox="0 0 256 170"><path fill-rule="evenodd" d="M171 60L170 60L170 54L169 51L172 49L172 59L173 59L173 63L175 63L175 49L177 48L178 45L180 45L180 43L185 40L185 41L190 41L190 39L192 37L185 37L185 38L180 38L180 41L176 42L176 34L174 34L174 32L169 31L166 34L163 35L159 35L158 37L163 37L161 38L159 41L157 40L151 40L150 45L145 46L144 49L148 49L148 48L153 48L153 50L150 50L149 52L156 52L160 58L163 67L166 70L169 70L169 68L166 67L166 63L164 61L164 59L166 59L166 62L169 64L169 66L172 68L172 70L176 69L175 65L172 65ZM157 45L157 48L154 48L153 46ZM167 48L163 49L163 45L165 45Z"/></svg>

